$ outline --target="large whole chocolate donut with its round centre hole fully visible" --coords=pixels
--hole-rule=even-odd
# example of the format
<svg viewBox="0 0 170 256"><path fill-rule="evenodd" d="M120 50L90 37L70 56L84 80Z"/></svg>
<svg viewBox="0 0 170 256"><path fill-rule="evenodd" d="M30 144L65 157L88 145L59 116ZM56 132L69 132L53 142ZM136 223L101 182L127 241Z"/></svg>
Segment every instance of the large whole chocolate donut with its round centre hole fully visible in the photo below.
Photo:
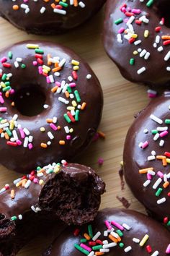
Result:
<svg viewBox="0 0 170 256"><path fill-rule="evenodd" d="M79 56L53 43L27 41L0 54L0 163L26 173L72 160L102 116L99 80Z"/></svg>

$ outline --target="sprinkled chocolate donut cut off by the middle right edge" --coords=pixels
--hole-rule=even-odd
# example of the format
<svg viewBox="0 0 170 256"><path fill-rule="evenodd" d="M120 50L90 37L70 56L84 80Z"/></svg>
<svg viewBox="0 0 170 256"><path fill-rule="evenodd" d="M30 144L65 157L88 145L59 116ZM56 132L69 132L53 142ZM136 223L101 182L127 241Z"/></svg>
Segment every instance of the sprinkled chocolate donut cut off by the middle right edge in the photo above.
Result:
<svg viewBox="0 0 170 256"><path fill-rule="evenodd" d="M153 218L170 227L170 93L155 98L128 131L123 153L125 179Z"/></svg>

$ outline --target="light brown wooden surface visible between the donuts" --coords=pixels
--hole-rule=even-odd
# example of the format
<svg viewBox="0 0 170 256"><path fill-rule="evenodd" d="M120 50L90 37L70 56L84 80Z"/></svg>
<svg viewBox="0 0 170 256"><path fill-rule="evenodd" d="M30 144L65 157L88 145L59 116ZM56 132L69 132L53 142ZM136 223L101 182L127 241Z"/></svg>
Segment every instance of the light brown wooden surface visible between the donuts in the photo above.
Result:
<svg viewBox="0 0 170 256"><path fill-rule="evenodd" d="M126 81L120 75L115 64L107 57L101 40L102 22L103 11L90 22L87 22L86 25L70 33L55 37L44 37L27 35L27 33L17 30L9 22L0 18L0 49L19 40L45 39L72 48L90 64L104 91L104 111L99 129L106 134L106 139L93 143L79 158L79 162L96 169L107 184L107 192L102 197L101 208L122 208L122 203L116 198L119 195L128 199L130 208L144 212L143 206L135 200L127 185L125 185L125 190L121 191L118 170L120 169L120 161L122 161L125 135L133 121L133 115L148 103L147 88ZM102 167L97 164L100 157L104 158ZM12 182L19 175L7 171L2 166L0 168L1 187ZM24 247L18 255L38 256L50 244L50 241L50 234L47 234L46 237L41 236L28 244L27 247Z"/></svg>

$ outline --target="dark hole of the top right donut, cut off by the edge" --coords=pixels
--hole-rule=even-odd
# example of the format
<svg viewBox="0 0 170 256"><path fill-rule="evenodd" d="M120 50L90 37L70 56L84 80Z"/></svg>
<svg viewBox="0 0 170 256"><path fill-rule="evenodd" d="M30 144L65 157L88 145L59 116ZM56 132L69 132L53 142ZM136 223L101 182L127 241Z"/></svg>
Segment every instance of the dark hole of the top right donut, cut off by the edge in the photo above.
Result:
<svg viewBox="0 0 170 256"><path fill-rule="evenodd" d="M170 1L169 0L161 0L156 4L157 13L160 18L165 19L164 25L166 27L170 27Z"/></svg>

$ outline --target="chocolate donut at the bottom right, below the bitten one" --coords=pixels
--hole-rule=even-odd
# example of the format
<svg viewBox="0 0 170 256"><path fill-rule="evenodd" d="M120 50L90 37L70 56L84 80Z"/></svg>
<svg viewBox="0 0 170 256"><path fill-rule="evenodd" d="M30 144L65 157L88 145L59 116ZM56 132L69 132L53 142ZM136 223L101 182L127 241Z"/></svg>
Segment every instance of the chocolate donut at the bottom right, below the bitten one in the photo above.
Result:
<svg viewBox="0 0 170 256"><path fill-rule="evenodd" d="M81 228L79 235L77 233L73 227L65 229L43 256L163 256L170 253L169 231L133 210L106 208L98 213L94 222Z"/></svg>

